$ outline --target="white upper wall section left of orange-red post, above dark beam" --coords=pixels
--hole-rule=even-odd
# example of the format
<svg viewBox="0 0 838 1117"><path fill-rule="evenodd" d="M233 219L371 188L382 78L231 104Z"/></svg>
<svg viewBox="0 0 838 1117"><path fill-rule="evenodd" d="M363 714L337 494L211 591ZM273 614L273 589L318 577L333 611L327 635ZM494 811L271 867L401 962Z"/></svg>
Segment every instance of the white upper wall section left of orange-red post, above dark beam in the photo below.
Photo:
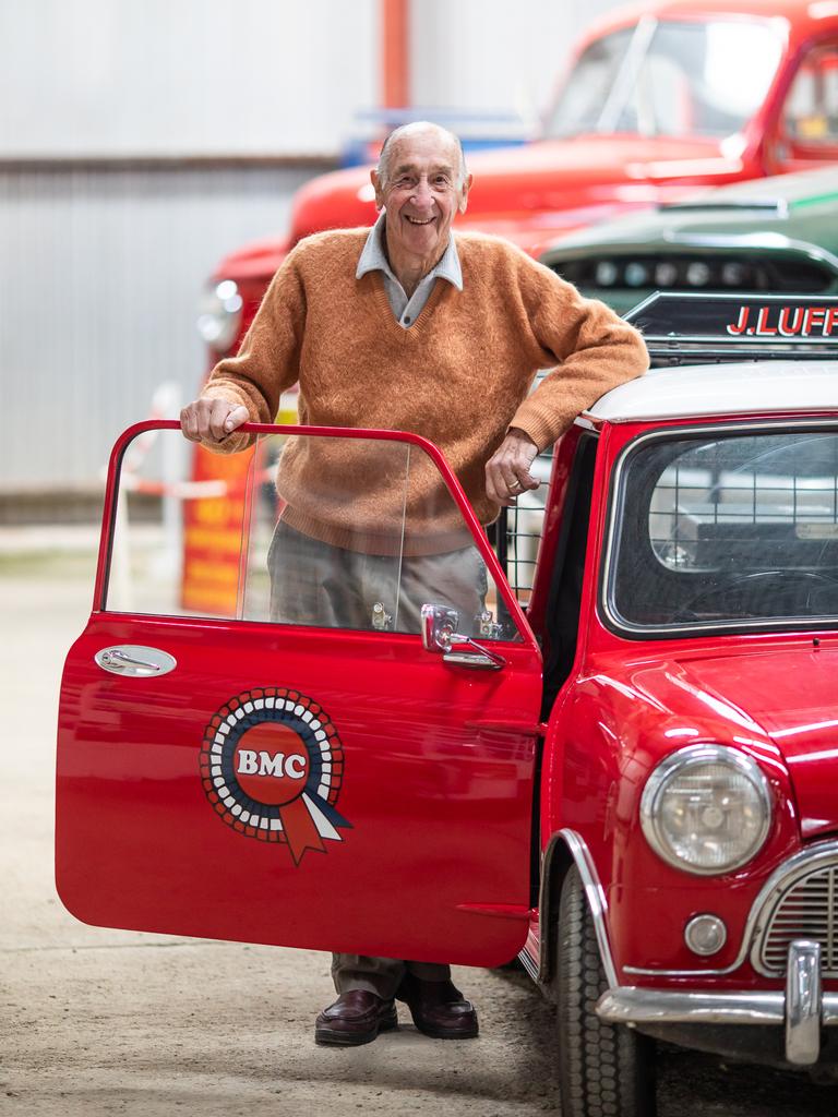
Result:
<svg viewBox="0 0 838 1117"><path fill-rule="evenodd" d="M377 0L0 0L0 155L334 152Z"/></svg>

